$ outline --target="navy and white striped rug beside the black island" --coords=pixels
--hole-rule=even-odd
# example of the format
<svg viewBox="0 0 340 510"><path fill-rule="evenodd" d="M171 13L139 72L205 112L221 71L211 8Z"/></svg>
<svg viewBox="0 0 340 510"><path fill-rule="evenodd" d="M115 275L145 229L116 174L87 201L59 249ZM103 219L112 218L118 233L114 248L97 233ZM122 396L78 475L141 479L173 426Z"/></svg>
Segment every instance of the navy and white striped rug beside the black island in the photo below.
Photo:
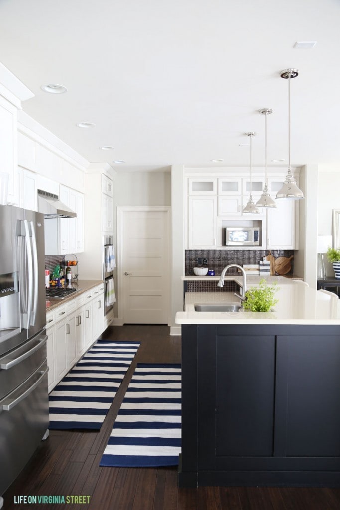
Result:
<svg viewBox="0 0 340 510"><path fill-rule="evenodd" d="M180 365L138 363L100 466L176 466L180 388Z"/></svg>

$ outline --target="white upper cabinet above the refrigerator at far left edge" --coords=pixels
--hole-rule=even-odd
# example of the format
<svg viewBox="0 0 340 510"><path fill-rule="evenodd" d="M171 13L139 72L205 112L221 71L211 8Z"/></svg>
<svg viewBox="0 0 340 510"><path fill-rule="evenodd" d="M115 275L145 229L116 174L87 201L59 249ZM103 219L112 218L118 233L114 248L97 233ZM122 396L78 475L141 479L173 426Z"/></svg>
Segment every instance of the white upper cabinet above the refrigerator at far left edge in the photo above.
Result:
<svg viewBox="0 0 340 510"><path fill-rule="evenodd" d="M17 123L17 108L0 96L0 172L9 175L7 198L14 205L19 203Z"/></svg>

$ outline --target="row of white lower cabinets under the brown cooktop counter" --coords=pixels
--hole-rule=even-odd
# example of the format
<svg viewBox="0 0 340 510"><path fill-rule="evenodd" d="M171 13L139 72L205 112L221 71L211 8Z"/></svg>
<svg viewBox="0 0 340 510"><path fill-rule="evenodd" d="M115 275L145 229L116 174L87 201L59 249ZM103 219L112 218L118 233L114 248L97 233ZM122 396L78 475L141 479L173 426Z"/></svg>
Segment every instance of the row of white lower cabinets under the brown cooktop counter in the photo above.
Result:
<svg viewBox="0 0 340 510"><path fill-rule="evenodd" d="M103 285L47 312L48 391L60 382L102 333Z"/></svg>

